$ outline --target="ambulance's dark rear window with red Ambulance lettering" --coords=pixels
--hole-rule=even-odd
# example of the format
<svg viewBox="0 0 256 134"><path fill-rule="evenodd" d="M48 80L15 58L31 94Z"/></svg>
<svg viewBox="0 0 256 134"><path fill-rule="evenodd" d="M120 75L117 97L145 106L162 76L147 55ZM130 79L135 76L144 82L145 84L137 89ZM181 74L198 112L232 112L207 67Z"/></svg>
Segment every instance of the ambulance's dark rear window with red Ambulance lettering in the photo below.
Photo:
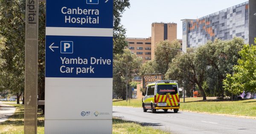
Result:
<svg viewBox="0 0 256 134"><path fill-rule="evenodd" d="M157 94L167 95L169 94L177 94L177 85L165 84L165 85L157 85Z"/></svg>

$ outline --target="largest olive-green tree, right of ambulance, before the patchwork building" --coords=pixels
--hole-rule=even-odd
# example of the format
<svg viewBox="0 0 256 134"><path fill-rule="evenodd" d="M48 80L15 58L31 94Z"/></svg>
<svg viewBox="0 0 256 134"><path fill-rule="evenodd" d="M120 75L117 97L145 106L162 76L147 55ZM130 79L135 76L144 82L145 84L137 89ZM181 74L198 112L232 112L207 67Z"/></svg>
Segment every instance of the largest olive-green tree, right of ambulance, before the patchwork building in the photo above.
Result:
<svg viewBox="0 0 256 134"><path fill-rule="evenodd" d="M187 92L197 85L204 99L206 91L211 96L224 98L223 80L227 73L233 72L232 67L237 64L243 44L241 38L230 41L216 39L198 48L188 49L185 55L175 57L169 64L166 79L179 80L179 83L183 81Z"/></svg>

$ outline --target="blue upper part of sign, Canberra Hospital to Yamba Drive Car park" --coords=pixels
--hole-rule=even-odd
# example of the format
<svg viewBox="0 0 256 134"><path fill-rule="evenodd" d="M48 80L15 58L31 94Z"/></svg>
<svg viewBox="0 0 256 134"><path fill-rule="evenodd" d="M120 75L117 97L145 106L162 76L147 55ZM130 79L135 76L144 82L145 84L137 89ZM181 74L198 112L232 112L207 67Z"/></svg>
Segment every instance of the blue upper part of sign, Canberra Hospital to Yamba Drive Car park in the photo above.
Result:
<svg viewBox="0 0 256 134"><path fill-rule="evenodd" d="M112 78L113 0L47 0L46 11L46 77Z"/></svg>

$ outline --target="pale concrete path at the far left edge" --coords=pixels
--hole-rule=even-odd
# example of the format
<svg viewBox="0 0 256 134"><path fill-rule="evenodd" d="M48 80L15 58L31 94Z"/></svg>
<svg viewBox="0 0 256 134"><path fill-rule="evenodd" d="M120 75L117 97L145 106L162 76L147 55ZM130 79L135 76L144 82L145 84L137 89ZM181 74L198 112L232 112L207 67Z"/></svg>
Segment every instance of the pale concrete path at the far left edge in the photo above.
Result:
<svg viewBox="0 0 256 134"><path fill-rule="evenodd" d="M0 123L6 121L12 114L14 114L16 108L12 105L6 105L0 102Z"/></svg>

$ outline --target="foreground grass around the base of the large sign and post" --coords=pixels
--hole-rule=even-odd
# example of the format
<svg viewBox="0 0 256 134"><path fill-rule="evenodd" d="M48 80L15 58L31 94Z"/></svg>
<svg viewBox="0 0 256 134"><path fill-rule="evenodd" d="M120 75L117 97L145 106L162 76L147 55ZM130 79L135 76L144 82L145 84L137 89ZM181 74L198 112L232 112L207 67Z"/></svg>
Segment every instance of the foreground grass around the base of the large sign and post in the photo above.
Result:
<svg viewBox="0 0 256 134"><path fill-rule="evenodd" d="M24 106L9 104L16 107L15 114L0 123L0 134L24 134ZM44 116L38 112L38 134L44 134ZM138 123L113 118L113 134L169 134Z"/></svg>

